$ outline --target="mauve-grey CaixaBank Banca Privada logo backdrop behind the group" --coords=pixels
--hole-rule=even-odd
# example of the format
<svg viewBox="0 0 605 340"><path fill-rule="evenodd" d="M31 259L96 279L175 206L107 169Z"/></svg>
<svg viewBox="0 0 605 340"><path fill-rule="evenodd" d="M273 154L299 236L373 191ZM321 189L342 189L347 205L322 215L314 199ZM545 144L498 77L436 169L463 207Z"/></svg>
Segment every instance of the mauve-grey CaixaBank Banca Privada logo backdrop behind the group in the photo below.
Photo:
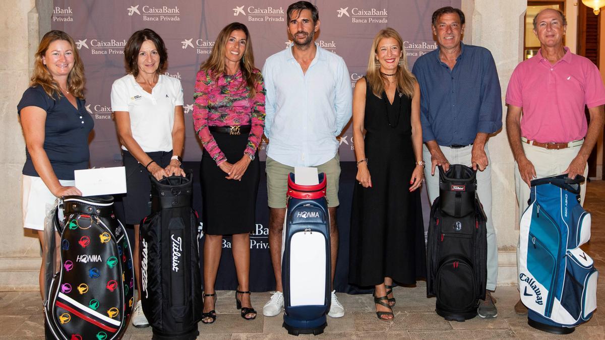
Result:
<svg viewBox="0 0 605 340"><path fill-rule="evenodd" d="M253 42L256 67L262 69L264 60L290 43L286 27L286 9L293 1L278 0L54 0L52 28L66 31L76 41L87 78L86 108L95 121L90 143L91 166L120 166L122 156L116 136L116 126L111 110L111 84L125 74L123 49L129 36L136 30L151 28L156 31L168 48L166 75L181 81L185 97L185 161L198 162L201 146L192 123L193 90L195 75L201 62L206 60L214 46L218 32L230 22L246 24ZM431 14L439 7L460 7L461 0L316 0L321 28L316 42L333 53L342 56L350 72L351 86L365 74L371 41L385 27L393 27L404 39L409 67L417 57L436 48L431 32ZM353 134L350 124L340 140L343 162L355 160ZM264 140L264 142L267 142ZM264 143L261 160L265 159ZM343 169L345 170L345 169ZM352 175L343 176L355 180ZM346 178L345 178L346 177ZM351 185L352 183L342 183ZM261 183L261 192L264 190ZM341 187L342 188L342 187ZM351 191L345 191L350 194ZM343 193L341 192L341 195ZM339 209L341 249L336 284L338 290L348 290L346 266L348 266L348 216L350 198ZM264 200L264 201L263 201ZM426 201L426 200L425 200ZM343 200L341 200L343 202ZM424 204L427 208L427 204ZM428 209L428 208L427 208ZM267 208L266 192L260 194L258 203L257 232L252 240L252 261L267 260L266 240ZM342 217L341 217L342 215ZM346 230L343 230L346 229ZM228 246L224 243L223 260L232 263ZM266 246L263 245L266 243ZM346 243L346 244L345 244ZM263 260L263 261L264 261ZM266 261L264 261L266 262ZM269 264L252 265L251 288L272 289L272 270ZM221 265L221 267L226 267ZM258 272L258 273L255 273ZM267 276L266 280L263 278ZM258 279L258 280L257 280ZM257 280L257 281L255 281ZM264 280L264 281L263 281ZM221 268L217 289L234 289L232 270Z"/></svg>

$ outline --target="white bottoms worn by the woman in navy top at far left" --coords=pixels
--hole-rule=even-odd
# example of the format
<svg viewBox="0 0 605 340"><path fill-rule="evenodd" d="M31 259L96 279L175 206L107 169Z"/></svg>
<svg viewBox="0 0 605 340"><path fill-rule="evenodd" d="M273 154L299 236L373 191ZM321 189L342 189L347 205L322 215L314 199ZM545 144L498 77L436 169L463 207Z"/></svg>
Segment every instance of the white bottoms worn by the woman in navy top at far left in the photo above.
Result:
<svg viewBox="0 0 605 340"><path fill-rule="evenodd" d="M75 181L59 180L62 186L74 186ZM54 208L57 198L48 190L40 177L22 175L23 227L44 230L44 218Z"/></svg>

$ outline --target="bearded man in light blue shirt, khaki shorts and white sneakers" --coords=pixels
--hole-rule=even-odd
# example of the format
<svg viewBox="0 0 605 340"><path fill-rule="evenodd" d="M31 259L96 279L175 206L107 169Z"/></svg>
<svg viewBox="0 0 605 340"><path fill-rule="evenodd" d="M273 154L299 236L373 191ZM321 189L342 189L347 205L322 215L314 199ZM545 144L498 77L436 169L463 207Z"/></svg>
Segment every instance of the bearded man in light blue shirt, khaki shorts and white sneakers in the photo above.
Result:
<svg viewBox="0 0 605 340"><path fill-rule="evenodd" d="M267 58L263 67L266 87L265 136L267 191L269 192L269 245L276 292L263 307L263 315L275 316L284 306L281 285L281 244L286 216L287 176L295 166L313 166L327 175L330 214L332 281L338 254L338 140L352 114L352 91L342 57L314 42L319 30L317 7L307 1L290 5L288 31L292 44ZM332 292L329 316L344 315Z"/></svg>

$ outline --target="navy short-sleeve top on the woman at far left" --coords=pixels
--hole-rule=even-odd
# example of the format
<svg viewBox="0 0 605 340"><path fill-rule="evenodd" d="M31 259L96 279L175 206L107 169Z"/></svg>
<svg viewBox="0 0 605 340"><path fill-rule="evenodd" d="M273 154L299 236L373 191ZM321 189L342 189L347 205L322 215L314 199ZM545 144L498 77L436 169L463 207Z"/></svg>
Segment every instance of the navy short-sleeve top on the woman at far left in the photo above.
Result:
<svg viewBox="0 0 605 340"><path fill-rule="evenodd" d="M44 125L44 151L48 155L54 174L60 180L73 180L74 170L88 169L88 134L93 129L93 118L85 108L85 101L77 99L77 109L65 96L49 97L41 86L30 87L23 93L17 112L27 106L38 106L46 111ZM23 174L40 177L25 148Z"/></svg>

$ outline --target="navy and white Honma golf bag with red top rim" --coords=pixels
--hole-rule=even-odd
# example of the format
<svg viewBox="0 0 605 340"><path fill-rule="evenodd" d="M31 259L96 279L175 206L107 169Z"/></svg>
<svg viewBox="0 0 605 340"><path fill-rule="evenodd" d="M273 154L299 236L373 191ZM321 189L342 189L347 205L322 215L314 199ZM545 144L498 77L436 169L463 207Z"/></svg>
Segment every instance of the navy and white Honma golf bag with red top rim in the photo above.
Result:
<svg viewBox="0 0 605 340"><path fill-rule="evenodd" d="M288 177L287 212L281 249L284 324L291 335L324 332L330 310L330 215L325 174L318 185Z"/></svg>

